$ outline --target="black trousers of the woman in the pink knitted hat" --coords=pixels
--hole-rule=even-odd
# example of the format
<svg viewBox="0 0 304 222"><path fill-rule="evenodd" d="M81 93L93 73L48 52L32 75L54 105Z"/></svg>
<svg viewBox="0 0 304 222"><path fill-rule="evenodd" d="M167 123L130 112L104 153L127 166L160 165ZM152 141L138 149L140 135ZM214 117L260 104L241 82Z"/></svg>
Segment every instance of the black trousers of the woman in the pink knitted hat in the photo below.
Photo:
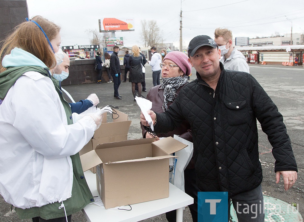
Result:
<svg viewBox="0 0 304 222"><path fill-rule="evenodd" d="M185 193L193 197L193 204L189 205L189 210L192 215L193 222L197 222L197 192L199 188L196 185L195 169L185 169ZM176 210L172 210L166 213L166 218L169 222L176 222Z"/></svg>

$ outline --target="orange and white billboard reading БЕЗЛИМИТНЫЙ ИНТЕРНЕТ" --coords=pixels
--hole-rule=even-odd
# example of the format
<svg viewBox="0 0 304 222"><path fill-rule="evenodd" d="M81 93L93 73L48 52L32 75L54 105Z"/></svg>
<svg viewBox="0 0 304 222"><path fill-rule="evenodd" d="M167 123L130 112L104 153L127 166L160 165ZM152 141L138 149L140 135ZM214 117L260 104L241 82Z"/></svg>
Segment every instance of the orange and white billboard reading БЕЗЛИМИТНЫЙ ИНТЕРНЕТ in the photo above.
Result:
<svg viewBox="0 0 304 222"><path fill-rule="evenodd" d="M134 31L133 18L102 18L99 19L99 32L103 31Z"/></svg>

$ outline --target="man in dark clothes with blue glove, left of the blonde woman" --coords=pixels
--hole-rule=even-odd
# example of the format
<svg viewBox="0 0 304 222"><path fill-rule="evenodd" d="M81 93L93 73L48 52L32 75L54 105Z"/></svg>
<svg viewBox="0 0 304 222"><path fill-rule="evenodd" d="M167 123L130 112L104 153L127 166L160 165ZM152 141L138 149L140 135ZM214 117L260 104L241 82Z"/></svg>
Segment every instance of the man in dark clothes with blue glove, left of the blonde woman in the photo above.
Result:
<svg viewBox="0 0 304 222"><path fill-rule="evenodd" d="M121 96L118 93L118 88L120 85L120 63L118 58L119 47L113 47L113 53L110 58L110 74L114 82L114 98L121 99Z"/></svg>

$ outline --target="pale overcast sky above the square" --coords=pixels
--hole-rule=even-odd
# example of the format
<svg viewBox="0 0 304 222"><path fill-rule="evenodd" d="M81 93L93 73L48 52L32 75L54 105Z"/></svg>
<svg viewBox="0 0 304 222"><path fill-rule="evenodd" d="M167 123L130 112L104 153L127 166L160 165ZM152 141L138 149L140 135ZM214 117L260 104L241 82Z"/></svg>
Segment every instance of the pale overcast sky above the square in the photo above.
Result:
<svg viewBox="0 0 304 222"><path fill-rule="evenodd" d="M297 3L295 3L297 2ZM214 38L218 27L234 37L304 33L304 5L286 0L27 0L29 17L41 15L61 26L61 46L89 45L88 29L101 18L133 18L135 31L116 32L125 46L143 46L141 20L156 20L164 43L179 47L182 9L183 46L197 35ZM287 19L287 18L289 19ZM291 22L291 21L292 22Z"/></svg>

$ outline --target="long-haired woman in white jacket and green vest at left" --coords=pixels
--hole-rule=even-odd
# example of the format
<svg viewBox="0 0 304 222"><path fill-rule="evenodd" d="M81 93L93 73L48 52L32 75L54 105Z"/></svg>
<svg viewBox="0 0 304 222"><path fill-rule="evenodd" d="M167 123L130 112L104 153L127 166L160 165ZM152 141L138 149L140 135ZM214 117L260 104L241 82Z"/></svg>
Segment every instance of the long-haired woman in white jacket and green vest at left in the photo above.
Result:
<svg viewBox="0 0 304 222"><path fill-rule="evenodd" d="M72 116L59 81L60 27L35 16L18 25L0 57L0 193L20 219L71 221L94 201L78 151L102 118Z"/></svg>

